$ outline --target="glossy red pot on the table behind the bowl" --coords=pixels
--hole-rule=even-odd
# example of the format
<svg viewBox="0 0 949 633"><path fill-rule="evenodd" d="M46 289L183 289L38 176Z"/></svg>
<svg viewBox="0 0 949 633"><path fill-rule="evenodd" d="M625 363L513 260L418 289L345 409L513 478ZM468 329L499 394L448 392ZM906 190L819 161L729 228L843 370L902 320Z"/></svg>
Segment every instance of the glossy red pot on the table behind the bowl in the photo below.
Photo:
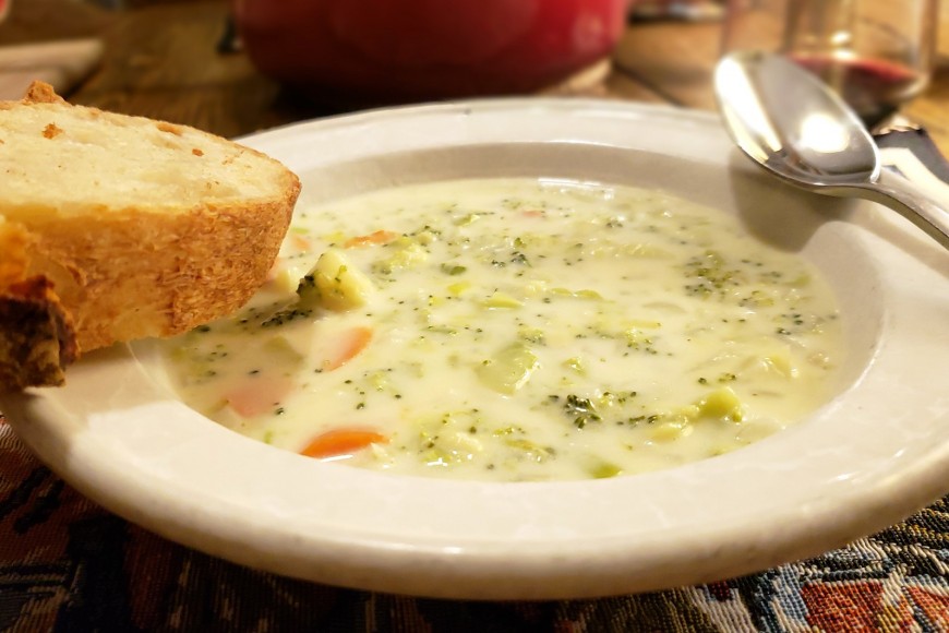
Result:
<svg viewBox="0 0 949 633"><path fill-rule="evenodd" d="M235 0L264 73L407 100L526 93L606 57L628 0Z"/></svg>

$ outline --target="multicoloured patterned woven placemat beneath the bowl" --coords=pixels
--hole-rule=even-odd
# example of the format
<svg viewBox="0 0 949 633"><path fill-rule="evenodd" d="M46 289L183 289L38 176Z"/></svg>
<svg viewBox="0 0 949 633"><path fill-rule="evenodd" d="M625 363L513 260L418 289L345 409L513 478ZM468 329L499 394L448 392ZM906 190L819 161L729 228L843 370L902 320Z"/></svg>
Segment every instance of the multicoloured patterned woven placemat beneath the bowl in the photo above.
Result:
<svg viewBox="0 0 949 633"><path fill-rule="evenodd" d="M0 416L0 631L949 631L949 497L852 546L760 574L596 600L466 602L245 569L87 500Z"/></svg>

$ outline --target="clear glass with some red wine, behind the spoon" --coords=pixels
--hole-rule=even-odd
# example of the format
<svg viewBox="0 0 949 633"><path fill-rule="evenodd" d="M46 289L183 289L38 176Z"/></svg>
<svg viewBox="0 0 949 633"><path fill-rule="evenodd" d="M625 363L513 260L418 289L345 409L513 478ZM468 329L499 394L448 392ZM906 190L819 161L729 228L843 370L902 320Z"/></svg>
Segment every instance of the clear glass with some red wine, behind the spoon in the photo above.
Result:
<svg viewBox="0 0 949 633"><path fill-rule="evenodd" d="M724 52L780 52L833 87L870 129L932 73L938 0L729 0Z"/></svg>

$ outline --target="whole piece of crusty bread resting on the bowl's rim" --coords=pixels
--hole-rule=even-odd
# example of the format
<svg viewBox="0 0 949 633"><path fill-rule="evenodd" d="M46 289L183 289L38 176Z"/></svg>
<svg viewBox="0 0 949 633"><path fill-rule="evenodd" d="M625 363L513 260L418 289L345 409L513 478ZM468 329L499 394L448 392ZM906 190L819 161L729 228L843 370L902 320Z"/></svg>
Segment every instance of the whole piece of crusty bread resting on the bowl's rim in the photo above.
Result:
<svg viewBox="0 0 949 633"><path fill-rule="evenodd" d="M7 389L60 384L37 369L53 348L64 367L76 348L170 336L239 308L266 279L300 192L259 152L69 105L40 83L0 101L0 182ZM34 369L28 348L46 350Z"/></svg>

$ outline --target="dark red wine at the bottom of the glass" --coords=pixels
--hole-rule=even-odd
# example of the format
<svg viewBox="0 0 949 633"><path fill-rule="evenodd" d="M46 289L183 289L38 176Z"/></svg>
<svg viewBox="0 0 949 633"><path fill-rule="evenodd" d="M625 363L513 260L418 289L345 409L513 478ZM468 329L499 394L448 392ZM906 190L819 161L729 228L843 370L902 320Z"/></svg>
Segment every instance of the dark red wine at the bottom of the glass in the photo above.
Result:
<svg viewBox="0 0 949 633"><path fill-rule="evenodd" d="M870 129L914 97L924 84L922 73L882 59L805 53L794 53L791 59L837 91Z"/></svg>

